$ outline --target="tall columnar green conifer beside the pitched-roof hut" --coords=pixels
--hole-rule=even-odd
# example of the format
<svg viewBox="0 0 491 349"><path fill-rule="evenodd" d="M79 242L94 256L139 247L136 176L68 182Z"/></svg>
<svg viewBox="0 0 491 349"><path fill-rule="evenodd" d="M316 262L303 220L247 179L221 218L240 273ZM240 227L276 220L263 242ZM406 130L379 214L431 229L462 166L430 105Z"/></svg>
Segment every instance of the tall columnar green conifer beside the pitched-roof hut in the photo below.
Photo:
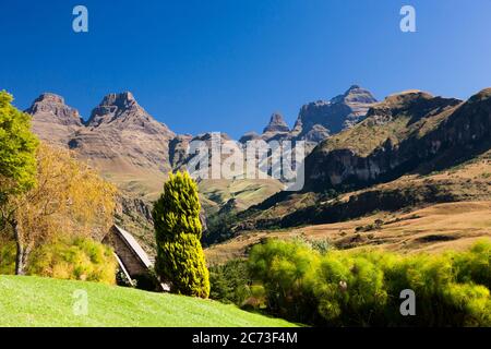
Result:
<svg viewBox="0 0 491 349"><path fill-rule="evenodd" d="M209 275L201 246L197 185L188 172L170 173L154 205L157 241L155 270L171 292L207 298Z"/></svg>

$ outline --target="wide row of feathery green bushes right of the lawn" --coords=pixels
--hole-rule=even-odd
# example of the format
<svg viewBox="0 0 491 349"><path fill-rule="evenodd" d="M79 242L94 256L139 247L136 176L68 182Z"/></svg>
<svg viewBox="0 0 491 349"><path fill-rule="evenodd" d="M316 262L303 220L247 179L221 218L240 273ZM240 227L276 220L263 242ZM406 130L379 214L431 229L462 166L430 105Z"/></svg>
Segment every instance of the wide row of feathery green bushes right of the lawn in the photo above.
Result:
<svg viewBox="0 0 491 349"><path fill-rule="evenodd" d="M382 251L320 254L301 241L252 249L251 276L267 311L327 326L490 326L490 242L468 252L398 255ZM416 316L399 312L400 291L416 293Z"/></svg>

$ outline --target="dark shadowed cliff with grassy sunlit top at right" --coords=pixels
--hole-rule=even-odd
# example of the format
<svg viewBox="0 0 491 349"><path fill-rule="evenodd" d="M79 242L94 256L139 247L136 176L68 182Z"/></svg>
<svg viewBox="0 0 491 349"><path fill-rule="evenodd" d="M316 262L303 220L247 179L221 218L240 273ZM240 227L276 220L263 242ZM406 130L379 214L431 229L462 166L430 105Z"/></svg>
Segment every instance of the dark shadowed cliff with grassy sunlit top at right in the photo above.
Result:
<svg viewBox="0 0 491 349"><path fill-rule="evenodd" d="M456 164L489 148L491 91L466 103L408 92L387 97L306 159L306 190L367 186Z"/></svg>

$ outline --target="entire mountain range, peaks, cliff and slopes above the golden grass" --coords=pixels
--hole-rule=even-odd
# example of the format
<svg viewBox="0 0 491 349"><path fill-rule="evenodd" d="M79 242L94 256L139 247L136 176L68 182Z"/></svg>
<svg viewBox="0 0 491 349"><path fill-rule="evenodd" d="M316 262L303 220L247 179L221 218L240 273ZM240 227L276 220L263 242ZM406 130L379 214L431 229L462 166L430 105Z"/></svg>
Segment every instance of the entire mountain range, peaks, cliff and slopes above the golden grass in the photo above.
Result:
<svg viewBox="0 0 491 349"><path fill-rule="evenodd" d="M105 96L86 121L51 93L26 112L41 140L73 149L121 189L122 224L141 231L136 237L152 253L152 201L167 173L191 160L189 143L208 143L212 134L176 134L129 92ZM223 133L221 141L228 140ZM205 243L258 229L351 221L379 210L491 202L491 89L468 100L406 91L378 101L354 85L302 106L292 128L274 112L262 133L248 132L239 142L251 140L306 141L306 185L288 193L274 179L200 182L203 217L209 219ZM342 243L360 238L342 232Z"/></svg>

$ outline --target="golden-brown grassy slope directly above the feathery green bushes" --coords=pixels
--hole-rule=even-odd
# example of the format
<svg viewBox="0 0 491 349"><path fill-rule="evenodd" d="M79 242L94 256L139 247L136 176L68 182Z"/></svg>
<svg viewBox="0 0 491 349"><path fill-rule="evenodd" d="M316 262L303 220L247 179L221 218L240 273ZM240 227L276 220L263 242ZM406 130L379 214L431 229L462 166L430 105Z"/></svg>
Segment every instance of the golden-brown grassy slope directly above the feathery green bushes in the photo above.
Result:
<svg viewBox="0 0 491 349"><path fill-rule="evenodd" d="M333 224L242 231L205 250L209 264L246 257L266 238L302 238L327 242L335 249L376 248L403 253L465 250L491 238L491 201L436 204L410 212L380 212Z"/></svg>

